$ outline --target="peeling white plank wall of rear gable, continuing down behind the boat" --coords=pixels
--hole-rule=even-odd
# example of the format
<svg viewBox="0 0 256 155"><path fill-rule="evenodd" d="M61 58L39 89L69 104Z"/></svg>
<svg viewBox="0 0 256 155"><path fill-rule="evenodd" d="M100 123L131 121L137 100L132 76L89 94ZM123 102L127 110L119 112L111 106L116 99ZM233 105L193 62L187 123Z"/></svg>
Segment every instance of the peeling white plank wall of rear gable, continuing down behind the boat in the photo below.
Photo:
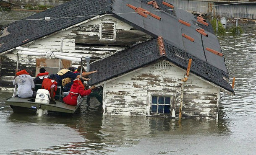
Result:
<svg viewBox="0 0 256 155"><path fill-rule="evenodd" d="M110 36L114 35L112 23L115 23L115 40L100 39L99 28L102 22L107 23L103 28L104 34L110 34ZM108 27L108 23L112 26L111 28ZM145 41L151 38L152 36L138 31L136 28L110 15L106 15L47 38L34 41L32 44L24 47L59 52L61 44L60 39L64 39L63 52L89 56L91 57L91 62L93 62L96 59L103 58L106 54L113 54L138 41ZM36 58L37 57L20 56L20 68L30 68L35 72ZM3 86L3 83L10 82L8 76L14 76L17 62L16 52L1 56L0 62L2 69L0 75L3 76L0 85ZM73 65L80 65L80 63L73 62ZM84 62L84 66L86 67L86 62Z"/></svg>

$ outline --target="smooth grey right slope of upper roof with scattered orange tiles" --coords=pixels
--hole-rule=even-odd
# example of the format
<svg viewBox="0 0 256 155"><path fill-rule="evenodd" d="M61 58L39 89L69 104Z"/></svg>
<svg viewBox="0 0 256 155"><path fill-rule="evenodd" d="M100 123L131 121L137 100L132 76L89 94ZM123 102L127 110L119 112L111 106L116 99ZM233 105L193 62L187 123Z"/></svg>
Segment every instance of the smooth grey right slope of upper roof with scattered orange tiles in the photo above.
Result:
<svg viewBox="0 0 256 155"><path fill-rule="evenodd" d="M161 10L167 10L166 5L162 4L162 0L155 1ZM127 6L127 4L136 8L143 8L144 10L159 16L161 20L154 18L152 15L147 15L145 18L137 13L131 13L135 10ZM172 8L169 7L169 10L170 9ZM116 0L115 3L112 4L112 13L116 13L116 15L113 16L119 20L130 23L137 29L144 31L147 34L151 34L154 37L162 36L173 46L198 57L204 62L208 62L220 70L228 72L224 57L220 57L219 55L206 50L206 48L213 49L216 52L222 53L217 36L213 34L211 24L208 23L209 25L206 26L200 23L197 21L197 16L182 9L175 9L172 11L174 13L167 13L168 10L160 11L154 8L153 5L149 5L148 3L139 0ZM189 23L190 26L182 24L180 21L185 21L186 23ZM197 32L196 29L198 28L204 29L204 32L208 36L203 36ZM190 36L194 41L190 41L183 37L182 34Z"/></svg>

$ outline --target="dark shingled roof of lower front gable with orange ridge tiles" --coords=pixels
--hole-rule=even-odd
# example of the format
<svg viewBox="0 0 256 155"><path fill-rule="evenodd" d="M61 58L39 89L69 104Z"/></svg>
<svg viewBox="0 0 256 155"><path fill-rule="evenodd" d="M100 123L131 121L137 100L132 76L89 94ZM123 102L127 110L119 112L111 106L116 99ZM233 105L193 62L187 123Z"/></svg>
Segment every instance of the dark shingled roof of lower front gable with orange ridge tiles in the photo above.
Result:
<svg viewBox="0 0 256 155"><path fill-rule="evenodd" d="M228 81L224 79L224 77L228 79L228 74L226 72L178 49L165 39L164 48L165 54L161 55L158 40L153 39L93 62L90 65L90 70L99 71L89 75L89 78L91 78L89 84L99 84L138 68L152 65L161 60L169 61L186 70L188 67L188 60L192 59L190 68L191 73L234 93L234 90Z"/></svg>

